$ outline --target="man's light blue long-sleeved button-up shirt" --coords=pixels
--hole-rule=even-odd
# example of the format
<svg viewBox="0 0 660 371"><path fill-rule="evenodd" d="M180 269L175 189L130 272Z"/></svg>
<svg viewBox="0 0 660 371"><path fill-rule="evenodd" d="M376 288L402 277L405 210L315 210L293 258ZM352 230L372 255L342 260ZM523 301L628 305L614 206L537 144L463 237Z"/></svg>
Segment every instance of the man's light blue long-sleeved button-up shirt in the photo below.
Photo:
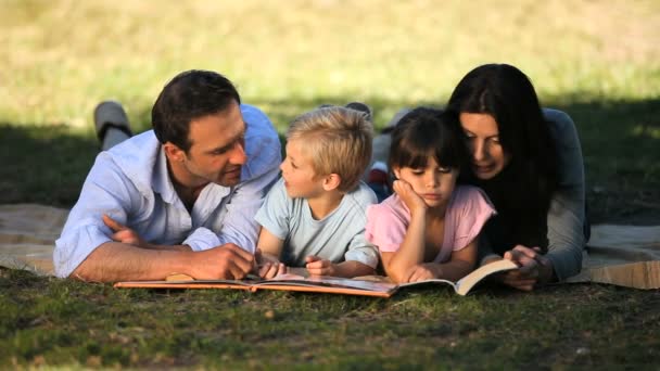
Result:
<svg viewBox="0 0 660 371"><path fill-rule="evenodd" d="M150 243L186 244L203 251L231 242L254 253L258 234L254 215L277 179L281 149L278 133L263 112L245 104L241 112L248 155L241 182L236 187L207 184L190 213L174 189L153 130L100 153L55 241L55 274L68 277L97 247L112 241L103 214Z"/></svg>

